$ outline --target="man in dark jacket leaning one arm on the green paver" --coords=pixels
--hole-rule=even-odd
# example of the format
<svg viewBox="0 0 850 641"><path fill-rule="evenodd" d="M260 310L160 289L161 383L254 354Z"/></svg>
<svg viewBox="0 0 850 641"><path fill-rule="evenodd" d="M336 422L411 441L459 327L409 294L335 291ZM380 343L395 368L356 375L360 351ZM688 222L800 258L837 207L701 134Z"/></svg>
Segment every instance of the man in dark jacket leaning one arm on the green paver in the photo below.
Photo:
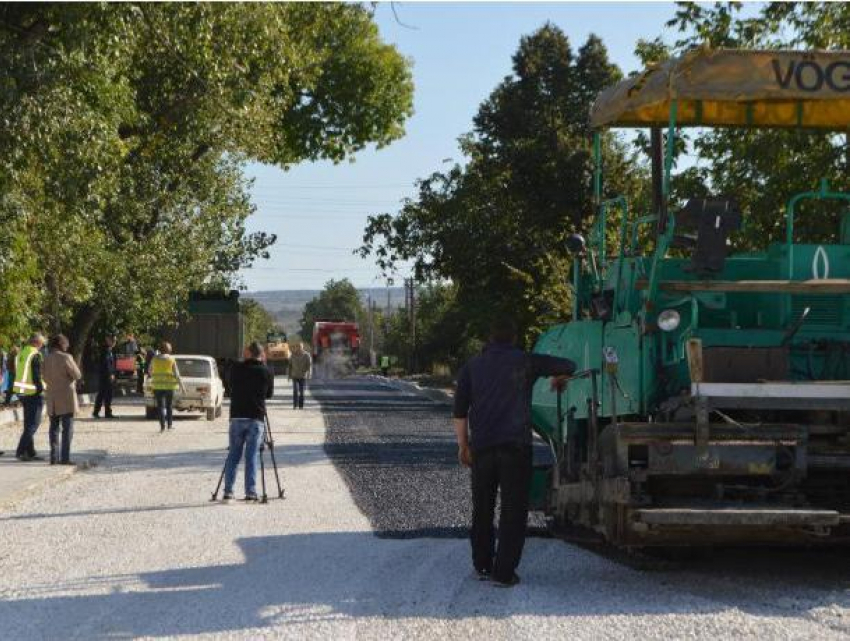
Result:
<svg viewBox="0 0 850 641"><path fill-rule="evenodd" d="M516 325L497 319L484 351L458 374L454 423L458 458L472 468L472 563L482 580L510 587L525 544L531 489L531 391L543 376L575 371L566 358L527 354L514 345ZM470 445L471 432L471 445ZM499 547L493 514L501 491Z"/></svg>

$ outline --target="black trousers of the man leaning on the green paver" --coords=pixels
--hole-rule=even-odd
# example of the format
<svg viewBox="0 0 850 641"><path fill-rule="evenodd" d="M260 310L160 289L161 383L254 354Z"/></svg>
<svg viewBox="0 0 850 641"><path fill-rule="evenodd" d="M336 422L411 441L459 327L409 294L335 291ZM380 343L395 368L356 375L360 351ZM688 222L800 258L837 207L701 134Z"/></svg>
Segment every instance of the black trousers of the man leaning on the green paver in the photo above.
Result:
<svg viewBox="0 0 850 641"><path fill-rule="evenodd" d="M496 445L472 453L472 562L497 581L509 581L522 557L531 489L531 446ZM499 546L495 548L493 514L501 490ZM494 562L495 561L495 562Z"/></svg>

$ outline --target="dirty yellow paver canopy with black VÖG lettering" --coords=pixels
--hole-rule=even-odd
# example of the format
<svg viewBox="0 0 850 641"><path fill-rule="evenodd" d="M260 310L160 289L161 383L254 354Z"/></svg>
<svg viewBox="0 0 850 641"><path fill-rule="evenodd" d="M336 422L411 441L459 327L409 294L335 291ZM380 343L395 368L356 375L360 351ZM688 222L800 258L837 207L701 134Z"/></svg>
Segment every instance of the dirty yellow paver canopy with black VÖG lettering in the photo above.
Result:
<svg viewBox="0 0 850 641"><path fill-rule="evenodd" d="M850 128L850 51L695 49L603 91L598 127Z"/></svg>

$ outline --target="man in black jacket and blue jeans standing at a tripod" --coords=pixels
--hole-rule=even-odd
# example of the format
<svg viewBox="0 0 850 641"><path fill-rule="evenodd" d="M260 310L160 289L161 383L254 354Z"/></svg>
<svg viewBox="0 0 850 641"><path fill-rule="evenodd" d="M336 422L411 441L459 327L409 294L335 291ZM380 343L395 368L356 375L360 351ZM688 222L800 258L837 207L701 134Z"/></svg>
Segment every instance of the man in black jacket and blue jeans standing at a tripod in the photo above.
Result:
<svg viewBox="0 0 850 641"><path fill-rule="evenodd" d="M245 360L230 369L230 451L224 466L224 500L233 498L236 470L245 451L245 500L257 500L257 463L263 439L266 400L274 394L274 376L263 347L245 348Z"/></svg>

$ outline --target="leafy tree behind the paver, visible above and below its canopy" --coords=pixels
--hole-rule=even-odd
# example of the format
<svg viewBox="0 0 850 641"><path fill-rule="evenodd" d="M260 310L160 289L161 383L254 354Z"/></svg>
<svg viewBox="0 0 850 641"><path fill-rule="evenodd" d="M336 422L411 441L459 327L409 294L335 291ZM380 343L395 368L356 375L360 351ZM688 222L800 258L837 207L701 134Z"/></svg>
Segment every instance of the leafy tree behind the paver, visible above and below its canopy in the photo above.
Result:
<svg viewBox="0 0 850 641"><path fill-rule="evenodd" d="M772 2L750 18L741 17L740 10L737 3L679 3L668 26L677 27L680 37L668 53L703 44L747 49L850 48L847 3ZM657 46L655 53L665 55ZM691 174L698 174L699 182L713 193L734 195L741 203L746 224L733 237L739 249L764 248L766 242L784 240L784 208L794 193L817 189L821 178L833 188L850 187L846 134L715 129L696 136L692 150L703 162ZM838 210L829 203L804 205L796 236L808 242L836 242ZM818 215L811 215L814 211Z"/></svg>

